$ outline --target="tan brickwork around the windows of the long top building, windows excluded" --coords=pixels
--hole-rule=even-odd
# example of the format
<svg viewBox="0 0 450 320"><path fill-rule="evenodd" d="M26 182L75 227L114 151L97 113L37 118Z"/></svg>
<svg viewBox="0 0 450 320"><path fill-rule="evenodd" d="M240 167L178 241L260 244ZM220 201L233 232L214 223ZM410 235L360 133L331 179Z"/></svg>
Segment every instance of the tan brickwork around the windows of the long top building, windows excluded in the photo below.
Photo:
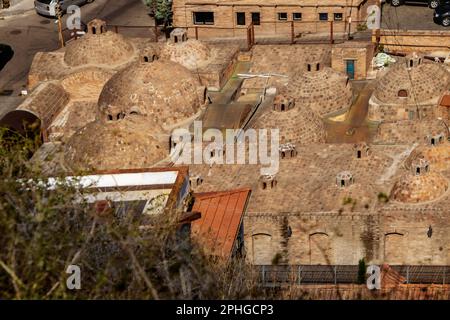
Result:
<svg viewBox="0 0 450 320"><path fill-rule="evenodd" d="M201 2L174 0L173 23L176 27L188 28L191 37L195 36L195 27L198 28L199 38L245 37L246 29L252 21L252 12L259 12L261 25L255 26L256 37L270 35L290 37L292 21L296 36L303 33L329 33L330 21L334 21L334 32L345 32L348 17L352 17L355 25L358 20L365 19L365 13L360 12L358 8L360 3L366 1L354 1L354 6L350 7L348 1L344 0L324 1L319 5L315 2L300 5L294 1L286 1L285 5L279 5L277 1L264 0L223 1L220 4L211 0ZM214 24L194 24L193 13L205 11L214 12ZM245 25L237 25L237 12L245 13ZM280 20L279 13L286 13L287 19ZM294 20L293 13L301 13L301 20ZM319 21L319 13L327 13L328 21ZM335 17L335 13L342 14L342 18Z"/></svg>

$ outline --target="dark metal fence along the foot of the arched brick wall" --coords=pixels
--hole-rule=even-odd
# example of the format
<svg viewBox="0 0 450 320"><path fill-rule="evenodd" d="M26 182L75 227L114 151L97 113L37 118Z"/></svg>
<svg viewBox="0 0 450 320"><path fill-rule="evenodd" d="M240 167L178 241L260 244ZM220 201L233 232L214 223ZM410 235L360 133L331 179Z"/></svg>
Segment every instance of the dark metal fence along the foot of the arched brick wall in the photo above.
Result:
<svg viewBox="0 0 450 320"><path fill-rule="evenodd" d="M256 266L264 286L284 284L356 284L357 265L270 265ZM450 284L450 266L391 266L406 283Z"/></svg>

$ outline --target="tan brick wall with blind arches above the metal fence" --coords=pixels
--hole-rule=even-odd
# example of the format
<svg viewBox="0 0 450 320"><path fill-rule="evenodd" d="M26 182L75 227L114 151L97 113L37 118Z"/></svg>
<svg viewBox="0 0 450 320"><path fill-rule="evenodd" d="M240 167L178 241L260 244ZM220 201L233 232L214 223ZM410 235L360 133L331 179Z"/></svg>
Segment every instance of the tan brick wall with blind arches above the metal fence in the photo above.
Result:
<svg viewBox="0 0 450 320"><path fill-rule="evenodd" d="M253 264L450 264L450 222L441 210L311 213L245 218ZM431 227L431 236L430 236Z"/></svg>

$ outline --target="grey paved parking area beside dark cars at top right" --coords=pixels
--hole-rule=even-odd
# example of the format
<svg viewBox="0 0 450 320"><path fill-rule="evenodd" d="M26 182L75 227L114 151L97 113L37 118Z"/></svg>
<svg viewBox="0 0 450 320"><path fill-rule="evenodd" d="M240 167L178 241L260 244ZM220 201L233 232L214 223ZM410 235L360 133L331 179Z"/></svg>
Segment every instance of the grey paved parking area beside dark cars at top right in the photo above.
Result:
<svg viewBox="0 0 450 320"><path fill-rule="evenodd" d="M382 28L387 29L411 29L411 30L447 30L433 21L434 10L426 5L407 4L392 7L383 5Z"/></svg>

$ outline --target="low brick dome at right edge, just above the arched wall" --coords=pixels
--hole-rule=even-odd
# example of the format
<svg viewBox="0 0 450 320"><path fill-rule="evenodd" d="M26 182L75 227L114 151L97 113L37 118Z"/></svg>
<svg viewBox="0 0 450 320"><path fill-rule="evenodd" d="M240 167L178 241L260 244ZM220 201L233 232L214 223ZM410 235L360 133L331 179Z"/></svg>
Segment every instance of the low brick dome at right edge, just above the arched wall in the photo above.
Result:
<svg viewBox="0 0 450 320"><path fill-rule="evenodd" d="M395 183L391 198L406 203L426 202L439 198L447 189L447 180L438 173L428 172L420 175L408 173Z"/></svg>

